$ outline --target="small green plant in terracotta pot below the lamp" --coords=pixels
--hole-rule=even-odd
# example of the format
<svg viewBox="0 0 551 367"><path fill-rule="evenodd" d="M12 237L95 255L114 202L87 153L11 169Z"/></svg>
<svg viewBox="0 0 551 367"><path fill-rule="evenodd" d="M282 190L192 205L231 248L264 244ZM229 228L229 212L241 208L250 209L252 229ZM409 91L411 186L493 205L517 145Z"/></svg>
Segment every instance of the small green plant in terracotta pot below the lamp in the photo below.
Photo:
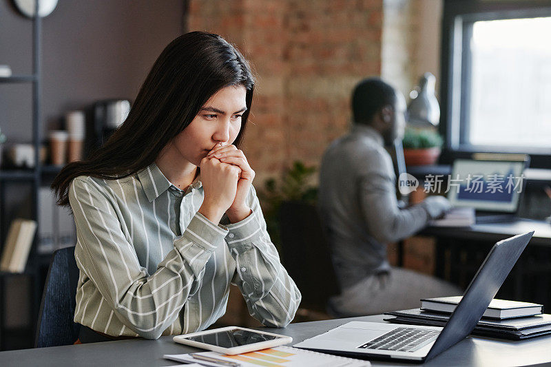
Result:
<svg viewBox="0 0 551 367"><path fill-rule="evenodd" d="M404 134L404 158L406 165L434 165L440 155L443 139L435 129L407 127Z"/></svg>

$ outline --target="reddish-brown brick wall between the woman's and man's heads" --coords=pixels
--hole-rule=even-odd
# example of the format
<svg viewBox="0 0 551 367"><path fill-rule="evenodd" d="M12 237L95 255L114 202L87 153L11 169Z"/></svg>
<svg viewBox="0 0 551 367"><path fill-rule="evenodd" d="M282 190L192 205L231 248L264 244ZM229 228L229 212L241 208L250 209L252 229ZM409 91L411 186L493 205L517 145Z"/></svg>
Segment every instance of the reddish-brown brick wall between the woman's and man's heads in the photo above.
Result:
<svg viewBox="0 0 551 367"><path fill-rule="evenodd" d="M355 83L380 75L382 0L189 3L189 30L225 36L251 61L257 89L245 152L256 186L293 160L318 166L349 127Z"/></svg>

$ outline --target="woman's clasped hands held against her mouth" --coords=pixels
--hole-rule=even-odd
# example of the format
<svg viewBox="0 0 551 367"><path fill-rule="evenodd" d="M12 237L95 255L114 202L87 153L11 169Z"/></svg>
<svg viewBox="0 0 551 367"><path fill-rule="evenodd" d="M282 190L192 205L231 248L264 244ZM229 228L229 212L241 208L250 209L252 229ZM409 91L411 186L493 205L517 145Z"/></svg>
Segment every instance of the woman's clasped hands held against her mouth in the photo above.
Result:
<svg viewBox="0 0 551 367"><path fill-rule="evenodd" d="M251 214L247 196L255 172L240 149L218 143L201 160L200 169L205 199L199 212L203 216L218 223L226 213L235 223Z"/></svg>

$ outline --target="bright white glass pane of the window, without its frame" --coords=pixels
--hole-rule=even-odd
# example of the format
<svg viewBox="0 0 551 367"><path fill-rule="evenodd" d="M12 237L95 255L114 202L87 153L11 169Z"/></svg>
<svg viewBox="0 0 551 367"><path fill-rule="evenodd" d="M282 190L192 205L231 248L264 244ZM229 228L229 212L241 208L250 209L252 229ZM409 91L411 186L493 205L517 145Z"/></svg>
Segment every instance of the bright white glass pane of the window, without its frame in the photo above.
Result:
<svg viewBox="0 0 551 367"><path fill-rule="evenodd" d="M470 39L465 143L551 145L551 17L477 21Z"/></svg>

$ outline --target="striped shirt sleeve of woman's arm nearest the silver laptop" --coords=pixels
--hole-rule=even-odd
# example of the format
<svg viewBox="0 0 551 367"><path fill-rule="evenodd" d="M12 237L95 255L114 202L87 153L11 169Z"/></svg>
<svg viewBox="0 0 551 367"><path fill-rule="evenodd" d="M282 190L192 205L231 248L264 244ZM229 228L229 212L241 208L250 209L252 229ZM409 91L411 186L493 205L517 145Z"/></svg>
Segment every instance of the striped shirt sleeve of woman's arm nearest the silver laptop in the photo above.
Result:
<svg viewBox="0 0 551 367"><path fill-rule="evenodd" d="M249 207L252 213L247 218L226 226L226 242L236 260L233 283L245 297L251 316L266 326L284 327L295 317L300 291L280 262L252 186Z"/></svg>

